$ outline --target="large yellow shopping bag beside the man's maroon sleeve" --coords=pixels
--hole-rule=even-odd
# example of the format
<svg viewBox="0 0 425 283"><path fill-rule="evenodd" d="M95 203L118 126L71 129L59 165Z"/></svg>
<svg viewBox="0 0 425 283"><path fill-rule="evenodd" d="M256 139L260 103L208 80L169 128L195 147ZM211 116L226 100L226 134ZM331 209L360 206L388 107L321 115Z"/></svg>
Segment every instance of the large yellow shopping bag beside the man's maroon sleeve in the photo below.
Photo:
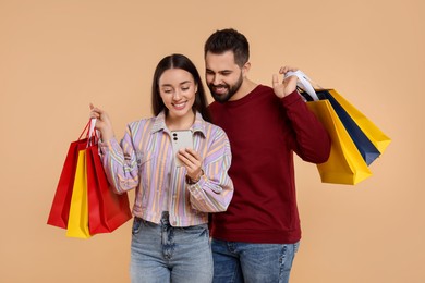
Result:
<svg viewBox="0 0 425 283"><path fill-rule="evenodd" d="M317 164L321 182L354 185L372 175L362 155L328 100L307 102L307 107L324 124L332 140L330 156Z"/></svg>

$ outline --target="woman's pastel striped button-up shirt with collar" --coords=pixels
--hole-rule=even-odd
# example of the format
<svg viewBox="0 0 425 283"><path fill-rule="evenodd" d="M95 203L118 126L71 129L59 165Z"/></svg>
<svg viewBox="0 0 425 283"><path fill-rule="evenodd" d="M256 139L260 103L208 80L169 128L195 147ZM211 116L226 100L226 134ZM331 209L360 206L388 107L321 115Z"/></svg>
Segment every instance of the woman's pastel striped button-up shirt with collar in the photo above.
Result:
<svg viewBox="0 0 425 283"><path fill-rule="evenodd" d="M224 131L196 113L191 131L194 149L203 159L204 175L189 185L186 169L174 163L165 118L162 111L130 123L121 144L114 138L100 143L109 183L118 194L136 189L135 217L159 223L167 210L173 226L207 223L208 212L226 211L233 196L233 183L228 175L229 139Z"/></svg>

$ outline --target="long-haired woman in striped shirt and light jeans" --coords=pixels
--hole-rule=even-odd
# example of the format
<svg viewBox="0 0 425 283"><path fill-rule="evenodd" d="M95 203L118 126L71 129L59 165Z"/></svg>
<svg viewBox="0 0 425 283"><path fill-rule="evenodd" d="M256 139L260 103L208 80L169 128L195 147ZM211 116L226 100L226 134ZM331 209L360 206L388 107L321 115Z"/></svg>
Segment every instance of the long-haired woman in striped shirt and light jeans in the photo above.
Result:
<svg viewBox="0 0 425 283"><path fill-rule="evenodd" d="M212 125L199 74L182 54L157 65L155 116L127 125L118 144L108 114L90 106L101 133L102 162L117 193L135 188L132 282L211 282L208 212L224 211L233 196L229 139ZM193 148L175 158L171 131L191 130Z"/></svg>

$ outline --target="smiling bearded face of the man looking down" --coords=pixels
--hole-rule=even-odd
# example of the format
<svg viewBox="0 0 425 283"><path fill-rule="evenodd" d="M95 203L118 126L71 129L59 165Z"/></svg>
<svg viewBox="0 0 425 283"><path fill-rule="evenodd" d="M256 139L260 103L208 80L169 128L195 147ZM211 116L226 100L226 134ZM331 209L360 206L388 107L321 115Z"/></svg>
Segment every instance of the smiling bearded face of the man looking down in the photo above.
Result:
<svg viewBox="0 0 425 283"><path fill-rule="evenodd" d="M207 52L205 65L205 81L214 99L221 103L235 100L233 96L243 83L243 72L234 62L233 52L226 51L222 54Z"/></svg>

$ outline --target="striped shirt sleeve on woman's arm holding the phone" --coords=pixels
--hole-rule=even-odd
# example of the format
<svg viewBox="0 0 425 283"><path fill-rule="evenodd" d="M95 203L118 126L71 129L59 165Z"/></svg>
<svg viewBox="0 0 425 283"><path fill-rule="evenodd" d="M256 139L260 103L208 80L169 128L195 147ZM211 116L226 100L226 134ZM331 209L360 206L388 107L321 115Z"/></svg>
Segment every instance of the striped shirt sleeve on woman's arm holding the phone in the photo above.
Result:
<svg viewBox="0 0 425 283"><path fill-rule="evenodd" d="M186 184L192 207L203 212L226 211L233 197L228 174L232 158L229 138L224 131L216 128L204 159L204 175L196 184Z"/></svg>

